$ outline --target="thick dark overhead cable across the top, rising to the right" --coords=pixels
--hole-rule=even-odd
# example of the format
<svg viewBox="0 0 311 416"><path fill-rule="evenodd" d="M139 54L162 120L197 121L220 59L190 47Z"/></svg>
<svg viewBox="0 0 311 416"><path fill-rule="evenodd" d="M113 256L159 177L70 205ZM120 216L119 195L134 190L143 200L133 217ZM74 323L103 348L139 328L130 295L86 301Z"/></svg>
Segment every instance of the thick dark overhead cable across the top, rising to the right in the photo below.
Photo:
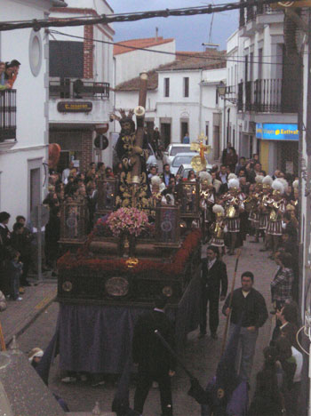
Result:
<svg viewBox="0 0 311 416"><path fill-rule="evenodd" d="M209 4L205 6L188 7L181 9L164 9L158 11L147 12L132 12L132 13L118 13L118 14L102 14L95 18L80 18L80 19L43 19L43 20L24 20L20 22L3 21L0 22L0 31L14 30L18 28L33 28L34 30L40 30L40 28L60 28L60 27L73 27L73 26L85 26L94 24L109 24L114 22L124 21L137 21L147 20L154 18L167 18L171 16L195 16L200 14L211 14L215 12L227 12L231 10L242 9L251 6L258 6L263 4L278 3L278 0L249 0L241 3L227 3L227 4ZM66 10L66 9L65 9Z"/></svg>

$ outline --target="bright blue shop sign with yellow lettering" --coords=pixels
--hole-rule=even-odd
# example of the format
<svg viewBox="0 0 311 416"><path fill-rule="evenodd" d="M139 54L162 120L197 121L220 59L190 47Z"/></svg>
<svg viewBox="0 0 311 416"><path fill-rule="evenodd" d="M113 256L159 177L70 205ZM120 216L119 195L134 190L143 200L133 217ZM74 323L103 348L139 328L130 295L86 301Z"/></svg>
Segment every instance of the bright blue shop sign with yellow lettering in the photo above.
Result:
<svg viewBox="0 0 311 416"><path fill-rule="evenodd" d="M262 140L299 140L298 124L256 123L256 137Z"/></svg>

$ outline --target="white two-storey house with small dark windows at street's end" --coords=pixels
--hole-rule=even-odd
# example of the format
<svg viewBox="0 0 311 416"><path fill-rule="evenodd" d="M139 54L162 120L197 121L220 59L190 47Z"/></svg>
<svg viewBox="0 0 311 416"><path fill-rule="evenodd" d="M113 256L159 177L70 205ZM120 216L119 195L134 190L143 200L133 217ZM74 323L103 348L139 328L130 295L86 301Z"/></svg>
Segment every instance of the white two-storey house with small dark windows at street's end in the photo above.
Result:
<svg viewBox="0 0 311 416"><path fill-rule="evenodd" d="M180 143L186 132L190 141L196 141L203 133L219 158L222 148L223 100L217 94L220 81L226 81L226 68L188 61L175 61L151 73L146 124L148 130L158 127L163 145ZM223 66L223 65L222 65ZM188 68L187 68L188 67ZM198 68L195 68L198 67ZM200 68L201 67L201 68ZM132 82L116 87L116 108L135 108L139 100L139 83Z"/></svg>

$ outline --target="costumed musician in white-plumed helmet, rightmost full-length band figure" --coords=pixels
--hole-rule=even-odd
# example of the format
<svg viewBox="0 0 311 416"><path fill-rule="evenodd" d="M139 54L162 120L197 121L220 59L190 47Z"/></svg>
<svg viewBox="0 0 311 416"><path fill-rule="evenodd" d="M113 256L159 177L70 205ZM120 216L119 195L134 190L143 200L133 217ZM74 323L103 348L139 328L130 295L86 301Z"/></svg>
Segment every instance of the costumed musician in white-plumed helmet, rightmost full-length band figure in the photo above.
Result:
<svg viewBox="0 0 311 416"><path fill-rule="evenodd" d="M272 248L270 259L275 258L275 252L280 243L280 237L282 236L282 216L285 212L285 201L283 199L284 186L280 180L274 180L272 182L272 196L267 199L267 207L269 210L269 216L267 220L267 238Z"/></svg>

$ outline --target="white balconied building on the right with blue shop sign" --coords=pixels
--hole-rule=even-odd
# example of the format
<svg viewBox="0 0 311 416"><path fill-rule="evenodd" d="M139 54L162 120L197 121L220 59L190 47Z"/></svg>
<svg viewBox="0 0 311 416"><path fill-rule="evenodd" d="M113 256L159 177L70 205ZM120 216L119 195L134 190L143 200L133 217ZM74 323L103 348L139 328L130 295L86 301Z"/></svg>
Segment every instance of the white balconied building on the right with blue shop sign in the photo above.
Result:
<svg viewBox="0 0 311 416"><path fill-rule="evenodd" d="M283 10L250 6L227 41L227 86L234 92L227 141L239 156L259 153L268 173L298 172L298 52L286 42L291 35Z"/></svg>

